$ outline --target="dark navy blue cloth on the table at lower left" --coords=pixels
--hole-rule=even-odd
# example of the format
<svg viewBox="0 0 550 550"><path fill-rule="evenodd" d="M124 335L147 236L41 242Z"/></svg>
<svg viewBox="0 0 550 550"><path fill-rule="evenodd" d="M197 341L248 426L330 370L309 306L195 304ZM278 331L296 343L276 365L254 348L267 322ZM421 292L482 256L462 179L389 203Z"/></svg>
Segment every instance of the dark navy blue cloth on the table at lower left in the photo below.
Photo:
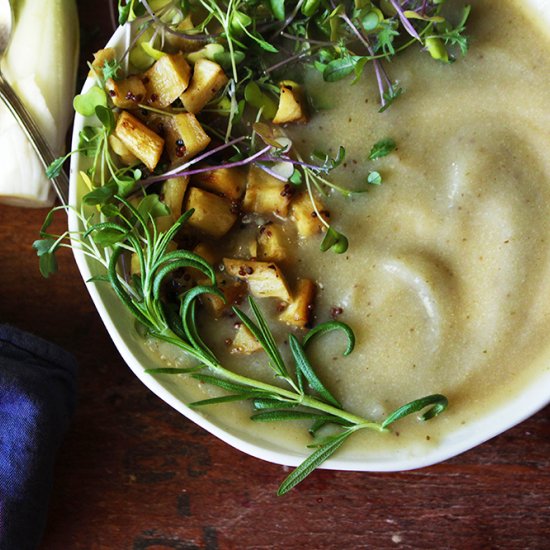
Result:
<svg viewBox="0 0 550 550"><path fill-rule="evenodd" d="M34 549L40 542L75 386L72 355L0 325L0 550Z"/></svg>

